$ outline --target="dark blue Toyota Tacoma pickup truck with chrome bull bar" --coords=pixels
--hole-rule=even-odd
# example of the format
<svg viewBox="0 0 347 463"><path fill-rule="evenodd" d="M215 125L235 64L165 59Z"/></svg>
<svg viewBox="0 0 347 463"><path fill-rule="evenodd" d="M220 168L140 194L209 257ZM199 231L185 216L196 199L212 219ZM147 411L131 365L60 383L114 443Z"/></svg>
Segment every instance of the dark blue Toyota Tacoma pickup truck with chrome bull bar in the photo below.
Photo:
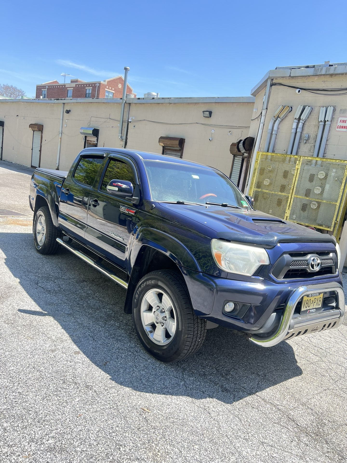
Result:
<svg viewBox="0 0 347 463"><path fill-rule="evenodd" d="M37 251L64 246L125 288L162 361L192 355L216 325L268 347L343 322L335 238L254 210L217 169L87 148L69 172L36 169L29 199Z"/></svg>

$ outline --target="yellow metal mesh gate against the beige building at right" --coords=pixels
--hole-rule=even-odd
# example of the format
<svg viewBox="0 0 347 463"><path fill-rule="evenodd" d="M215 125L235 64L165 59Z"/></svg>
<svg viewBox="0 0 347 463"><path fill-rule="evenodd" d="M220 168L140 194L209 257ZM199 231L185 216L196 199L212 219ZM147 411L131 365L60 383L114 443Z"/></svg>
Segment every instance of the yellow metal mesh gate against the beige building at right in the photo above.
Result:
<svg viewBox="0 0 347 463"><path fill-rule="evenodd" d="M250 194L260 211L339 238L346 179L347 161L258 152Z"/></svg>

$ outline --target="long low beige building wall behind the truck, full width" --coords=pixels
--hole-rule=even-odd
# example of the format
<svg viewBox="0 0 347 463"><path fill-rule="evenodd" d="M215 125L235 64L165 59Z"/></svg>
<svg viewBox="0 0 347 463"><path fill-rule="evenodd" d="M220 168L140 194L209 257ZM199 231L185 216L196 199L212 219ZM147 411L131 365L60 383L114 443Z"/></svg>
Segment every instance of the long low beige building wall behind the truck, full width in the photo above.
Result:
<svg viewBox="0 0 347 463"><path fill-rule="evenodd" d="M243 102L134 102L130 104L129 117L134 119L129 125L126 148L161 153L159 137L185 138L185 159L217 167L229 175L232 160L229 146L248 136L253 106L254 103ZM0 101L0 120L5 121L3 159L30 166L32 131L29 124L37 123L43 125L41 167L55 169L61 108L60 102ZM71 110L69 114L65 113L67 109ZM123 144L118 139L120 109L120 103L115 102L66 102L59 168L69 169L83 149L80 127L99 129L98 146L121 148ZM203 117L203 110L212 111L211 119ZM212 129L215 132L211 135Z"/></svg>

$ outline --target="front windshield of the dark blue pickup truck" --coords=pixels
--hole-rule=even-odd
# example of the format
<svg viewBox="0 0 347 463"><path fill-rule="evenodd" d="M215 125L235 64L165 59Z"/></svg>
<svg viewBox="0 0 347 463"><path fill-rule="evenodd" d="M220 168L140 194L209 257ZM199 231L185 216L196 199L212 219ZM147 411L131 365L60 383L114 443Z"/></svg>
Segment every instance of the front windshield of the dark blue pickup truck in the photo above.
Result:
<svg viewBox="0 0 347 463"><path fill-rule="evenodd" d="M216 170L166 161L144 161L144 165L154 201L225 203L250 209L243 194Z"/></svg>

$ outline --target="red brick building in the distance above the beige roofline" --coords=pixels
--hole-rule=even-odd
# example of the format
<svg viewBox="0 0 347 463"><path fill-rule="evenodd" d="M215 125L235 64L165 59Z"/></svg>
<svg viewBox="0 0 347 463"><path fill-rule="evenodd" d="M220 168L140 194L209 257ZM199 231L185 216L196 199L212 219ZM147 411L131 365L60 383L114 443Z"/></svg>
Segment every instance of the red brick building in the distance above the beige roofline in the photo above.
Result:
<svg viewBox="0 0 347 463"><path fill-rule="evenodd" d="M122 98L123 85L124 77L121 75L105 81L71 79L65 84L50 81L36 86L36 98ZM129 84L126 93L136 97Z"/></svg>

